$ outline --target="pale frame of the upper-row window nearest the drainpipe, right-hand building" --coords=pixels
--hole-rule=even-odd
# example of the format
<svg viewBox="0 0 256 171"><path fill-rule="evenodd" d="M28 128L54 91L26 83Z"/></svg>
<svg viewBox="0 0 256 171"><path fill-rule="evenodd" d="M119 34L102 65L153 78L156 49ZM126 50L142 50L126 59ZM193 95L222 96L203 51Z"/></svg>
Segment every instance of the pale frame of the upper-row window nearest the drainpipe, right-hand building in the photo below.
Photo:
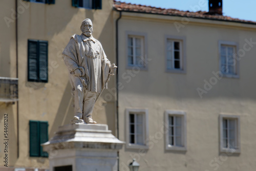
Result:
<svg viewBox="0 0 256 171"><path fill-rule="evenodd" d="M136 65L136 64L129 64L128 62L128 52L129 52L129 37L141 38L141 56L143 61L143 66ZM134 40L133 40L134 41ZM134 43L134 42L133 42ZM135 45L135 44L133 44ZM135 47L133 47L133 51L135 51ZM133 69L134 67L139 67L141 70L147 70L147 34L141 32L133 32L133 31L126 31L126 68ZM133 54L133 60L136 61L136 53Z"/></svg>

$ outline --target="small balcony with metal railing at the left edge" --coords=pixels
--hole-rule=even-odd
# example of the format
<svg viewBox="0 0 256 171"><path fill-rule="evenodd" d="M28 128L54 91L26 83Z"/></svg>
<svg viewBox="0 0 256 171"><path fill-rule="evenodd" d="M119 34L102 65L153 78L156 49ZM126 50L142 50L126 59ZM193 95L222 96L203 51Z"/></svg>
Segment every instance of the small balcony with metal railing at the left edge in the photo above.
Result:
<svg viewBox="0 0 256 171"><path fill-rule="evenodd" d="M0 77L0 102L18 101L18 78Z"/></svg>

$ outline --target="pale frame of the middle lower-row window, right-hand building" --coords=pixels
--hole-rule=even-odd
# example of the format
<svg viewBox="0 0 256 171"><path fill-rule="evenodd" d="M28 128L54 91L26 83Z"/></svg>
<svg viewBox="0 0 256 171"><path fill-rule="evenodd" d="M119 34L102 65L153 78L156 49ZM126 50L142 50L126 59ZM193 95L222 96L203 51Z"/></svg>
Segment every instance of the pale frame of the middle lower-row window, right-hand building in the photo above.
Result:
<svg viewBox="0 0 256 171"><path fill-rule="evenodd" d="M186 113L183 111L166 110L165 113L165 150L167 151L186 151L187 150L187 131L186 131ZM169 116L181 116L181 141L183 146L173 146L169 144Z"/></svg>

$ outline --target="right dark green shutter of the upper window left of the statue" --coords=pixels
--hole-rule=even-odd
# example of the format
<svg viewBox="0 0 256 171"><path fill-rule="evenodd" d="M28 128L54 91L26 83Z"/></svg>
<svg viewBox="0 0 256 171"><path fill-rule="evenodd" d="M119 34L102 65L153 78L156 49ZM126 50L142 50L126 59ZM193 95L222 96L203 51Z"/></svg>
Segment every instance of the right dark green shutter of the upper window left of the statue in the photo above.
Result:
<svg viewBox="0 0 256 171"><path fill-rule="evenodd" d="M38 40L38 78L41 82L48 82L48 41Z"/></svg>

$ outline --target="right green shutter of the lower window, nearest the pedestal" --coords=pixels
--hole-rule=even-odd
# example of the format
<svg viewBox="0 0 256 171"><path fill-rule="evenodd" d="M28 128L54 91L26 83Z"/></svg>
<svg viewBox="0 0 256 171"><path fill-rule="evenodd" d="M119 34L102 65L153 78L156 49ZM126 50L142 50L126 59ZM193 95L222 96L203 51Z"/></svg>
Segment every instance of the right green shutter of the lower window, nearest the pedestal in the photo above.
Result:
<svg viewBox="0 0 256 171"><path fill-rule="evenodd" d="M40 144L45 143L47 141L48 141L48 122L47 121L41 121L40 122ZM48 153L42 151L42 146L41 145L40 145L40 156L41 157L48 157Z"/></svg>

